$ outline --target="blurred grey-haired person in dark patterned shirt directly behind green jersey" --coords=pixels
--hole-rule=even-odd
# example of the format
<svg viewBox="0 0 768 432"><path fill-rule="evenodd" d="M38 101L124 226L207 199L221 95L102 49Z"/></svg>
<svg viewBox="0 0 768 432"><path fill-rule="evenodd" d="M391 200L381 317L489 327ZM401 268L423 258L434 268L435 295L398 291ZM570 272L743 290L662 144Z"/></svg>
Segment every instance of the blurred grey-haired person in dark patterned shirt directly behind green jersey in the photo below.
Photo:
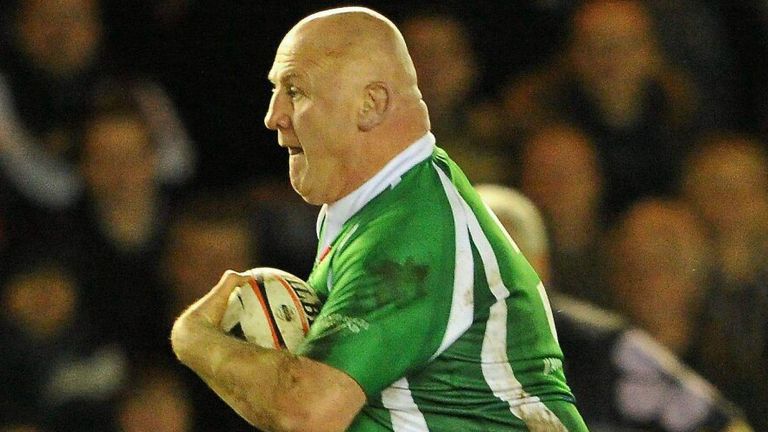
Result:
<svg viewBox="0 0 768 432"><path fill-rule="evenodd" d="M530 200L498 185L478 192L547 284L568 385L591 431L752 430L736 407L645 331L549 283L546 232Z"/></svg>

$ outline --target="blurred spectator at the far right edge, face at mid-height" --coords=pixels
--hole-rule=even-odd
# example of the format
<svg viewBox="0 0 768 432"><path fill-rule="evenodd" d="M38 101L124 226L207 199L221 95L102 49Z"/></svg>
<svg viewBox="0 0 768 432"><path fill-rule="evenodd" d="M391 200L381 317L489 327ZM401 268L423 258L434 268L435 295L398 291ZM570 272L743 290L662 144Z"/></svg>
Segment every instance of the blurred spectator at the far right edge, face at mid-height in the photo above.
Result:
<svg viewBox="0 0 768 432"><path fill-rule="evenodd" d="M756 138L701 140L682 191L714 242L698 367L768 430L768 156Z"/></svg>

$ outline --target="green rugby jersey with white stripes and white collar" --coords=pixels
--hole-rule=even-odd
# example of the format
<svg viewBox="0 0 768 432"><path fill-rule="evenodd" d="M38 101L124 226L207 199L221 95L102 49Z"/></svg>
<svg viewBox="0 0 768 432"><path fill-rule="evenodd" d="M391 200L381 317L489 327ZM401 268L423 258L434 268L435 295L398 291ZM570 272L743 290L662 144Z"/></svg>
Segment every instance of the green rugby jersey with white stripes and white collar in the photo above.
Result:
<svg viewBox="0 0 768 432"><path fill-rule="evenodd" d="M543 285L431 134L318 227L298 354L362 387L350 431L586 431Z"/></svg>

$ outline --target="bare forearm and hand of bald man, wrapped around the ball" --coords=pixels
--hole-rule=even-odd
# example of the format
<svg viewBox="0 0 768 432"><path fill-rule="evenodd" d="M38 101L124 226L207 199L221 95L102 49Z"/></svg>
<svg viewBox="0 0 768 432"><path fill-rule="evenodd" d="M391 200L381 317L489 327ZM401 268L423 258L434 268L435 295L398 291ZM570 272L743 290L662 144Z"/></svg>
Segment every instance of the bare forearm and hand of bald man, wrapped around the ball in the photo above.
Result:
<svg viewBox="0 0 768 432"><path fill-rule="evenodd" d="M365 403L347 374L288 351L227 336L221 317L232 289L248 277L227 272L176 321L179 360L254 426L267 431L343 431Z"/></svg>

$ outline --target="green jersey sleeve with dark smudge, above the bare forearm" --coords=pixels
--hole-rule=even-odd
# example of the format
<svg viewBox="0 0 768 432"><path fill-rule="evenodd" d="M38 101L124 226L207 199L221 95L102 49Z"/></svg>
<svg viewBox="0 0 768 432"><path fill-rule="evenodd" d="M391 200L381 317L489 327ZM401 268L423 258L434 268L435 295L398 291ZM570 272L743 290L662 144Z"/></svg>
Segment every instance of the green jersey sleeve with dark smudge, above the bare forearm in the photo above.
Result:
<svg viewBox="0 0 768 432"><path fill-rule="evenodd" d="M299 354L346 372L368 396L429 361L454 277L453 227L429 221L380 218L336 252L328 298Z"/></svg>

